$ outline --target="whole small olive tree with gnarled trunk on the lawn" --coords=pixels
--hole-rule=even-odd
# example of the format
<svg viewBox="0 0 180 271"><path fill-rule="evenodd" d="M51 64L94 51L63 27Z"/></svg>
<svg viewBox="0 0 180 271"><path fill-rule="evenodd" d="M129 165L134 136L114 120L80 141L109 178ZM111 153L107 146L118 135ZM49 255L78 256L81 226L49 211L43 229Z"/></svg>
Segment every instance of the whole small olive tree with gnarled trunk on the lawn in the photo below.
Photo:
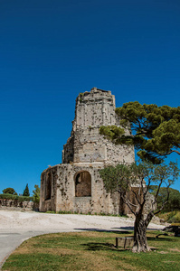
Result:
<svg viewBox="0 0 180 271"><path fill-rule="evenodd" d="M166 205L169 198L169 186L175 182L178 175L177 164L172 162L169 165L155 165L150 162L118 164L116 167L109 166L100 170L100 176L104 181L107 192L118 192L122 201L128 205L129 210L135 215L133 252L150 250L147 246L147 226L153 216ZM171 180L170 177L172 177ZM157 191L151 203L151 208L145 215L147 195L152 182L157 184ZM162 184L166 185L166 197L159 210L155 210L157 196ZM133 185L137 186L138 189L133 190ZM128 191L134 194L136 203L129 201Z"/></svg>

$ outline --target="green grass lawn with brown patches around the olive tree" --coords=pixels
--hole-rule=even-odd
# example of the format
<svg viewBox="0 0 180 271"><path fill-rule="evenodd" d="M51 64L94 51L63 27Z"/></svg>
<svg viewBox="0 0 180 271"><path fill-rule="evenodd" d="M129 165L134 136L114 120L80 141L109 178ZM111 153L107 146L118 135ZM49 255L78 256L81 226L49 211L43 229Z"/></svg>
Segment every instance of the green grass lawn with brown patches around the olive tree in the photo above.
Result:
<svg viewBox="0 0 180 271"><path fill-rule="evenodd" d="M115 238L133 232L73 232L30 238L6 260L2 270L180 270L180 238L148 231L151 252L116 248Z"/></svg>

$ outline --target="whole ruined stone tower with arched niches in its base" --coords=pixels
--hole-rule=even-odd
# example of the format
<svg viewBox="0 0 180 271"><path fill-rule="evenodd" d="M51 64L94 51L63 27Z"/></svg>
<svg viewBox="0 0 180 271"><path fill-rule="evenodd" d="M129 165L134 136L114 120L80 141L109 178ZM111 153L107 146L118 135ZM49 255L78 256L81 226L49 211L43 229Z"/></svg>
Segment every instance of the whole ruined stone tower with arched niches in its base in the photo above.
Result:
<svg viewBox="0 0 180 271"><path fill-rule="evenodd" d="M119 125L111 92L93 88L80 93L71 137L63 146L62 164L42 173L41 211L126 212L118 195L105 191L99 170L107 164L134 162L134 149L113 145L99 135L99 127L109 125Z"/></svg>

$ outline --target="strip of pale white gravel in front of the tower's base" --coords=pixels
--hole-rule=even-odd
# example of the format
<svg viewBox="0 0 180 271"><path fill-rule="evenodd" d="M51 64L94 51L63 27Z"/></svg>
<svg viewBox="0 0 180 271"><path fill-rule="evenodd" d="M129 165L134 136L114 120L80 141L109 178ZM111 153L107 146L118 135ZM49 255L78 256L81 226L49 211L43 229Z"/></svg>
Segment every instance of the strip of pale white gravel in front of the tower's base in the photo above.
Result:
<svg viewBox="0 0 180 271"><path fill-rule="evenodd" d="M0 210L0 230L48 230L62 229L126 229L133 227L131 218L92 216L81 214L51 214L34 211ZM163 229L165 226L150 223L149 229Z"/></svg>

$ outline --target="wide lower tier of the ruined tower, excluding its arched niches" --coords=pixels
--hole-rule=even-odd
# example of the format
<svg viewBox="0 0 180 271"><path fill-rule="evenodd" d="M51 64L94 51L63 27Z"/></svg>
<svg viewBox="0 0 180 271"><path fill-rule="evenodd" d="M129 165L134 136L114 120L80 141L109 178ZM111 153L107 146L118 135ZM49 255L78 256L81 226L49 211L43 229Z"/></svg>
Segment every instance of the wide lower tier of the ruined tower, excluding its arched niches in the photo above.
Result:
<svg viewBox="0 0 180 271"><path fill-rule="evenodd" d="M113 213L118 214L119 195L107 193L104 189L103 181L100 179L99 170L103 168L103 164L75 165L60 164L48 168L42 174L42 181L49 173L57 173L56 175L56 191L52 200L44 201L47 210L55 211L71 211L77 213ZM78 173L90 173L90 196L76 196L76 176ZM42 194L45 198L45 191ZM55 201L55 199L57 199Z"/></svg>

